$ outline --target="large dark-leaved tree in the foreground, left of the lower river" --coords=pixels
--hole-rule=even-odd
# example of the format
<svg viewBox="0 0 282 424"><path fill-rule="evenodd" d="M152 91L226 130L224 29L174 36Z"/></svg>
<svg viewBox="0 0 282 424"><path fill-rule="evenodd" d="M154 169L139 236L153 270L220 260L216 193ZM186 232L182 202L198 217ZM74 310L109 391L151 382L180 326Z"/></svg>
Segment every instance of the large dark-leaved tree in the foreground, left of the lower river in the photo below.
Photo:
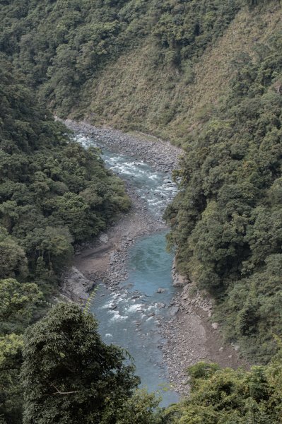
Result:
<svg viewBox="0 0 282 424"><path fill-rule="evenodd" d="M25 333L23 423L102 423L139 384L133 372L120 348L102 343L91 314L59 303Z"/></svg>

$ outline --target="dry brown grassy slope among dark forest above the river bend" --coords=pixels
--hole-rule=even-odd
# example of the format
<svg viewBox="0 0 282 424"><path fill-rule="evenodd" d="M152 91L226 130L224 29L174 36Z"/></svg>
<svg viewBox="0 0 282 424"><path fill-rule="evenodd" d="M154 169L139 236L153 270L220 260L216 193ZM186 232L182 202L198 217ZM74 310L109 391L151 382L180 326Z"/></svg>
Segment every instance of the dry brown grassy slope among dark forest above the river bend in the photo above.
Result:
<svg viewBox="0 0 282 424"><path fill-rule="evenodd" d="M259 17L247 8L240 11L223 37L194 65L194 82L188 84L174 66L161 63L158 47L147 39L88 82L86 117L96 124L184 142L228 92L235 56L253 54L254 45L264 42L278 25L281 6L277 2Z"/></svg>

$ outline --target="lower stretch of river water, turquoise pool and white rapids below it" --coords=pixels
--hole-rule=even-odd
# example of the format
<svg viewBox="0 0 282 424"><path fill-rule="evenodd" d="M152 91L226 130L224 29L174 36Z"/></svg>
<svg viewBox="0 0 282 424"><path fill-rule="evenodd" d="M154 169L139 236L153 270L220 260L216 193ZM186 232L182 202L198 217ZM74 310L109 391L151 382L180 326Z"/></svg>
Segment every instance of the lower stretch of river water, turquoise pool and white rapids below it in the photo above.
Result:
<svg viewBox="0 0 282 424"><path fill-rule="evenodd" d="M158 348L165 341L156 318L167 316L169 308L163 305L169 305L175 293L171 285L171 265L172 255L165 251L165 232L142 237L129 250L129 278L121 283L119 293L113 294L100 285L102 297L97 295L93 302L102 338L106 343L129 350L135 360L136 374L149 391L169 384L162 351ZM129 282L133 283L130 289ZM124 287L127 287L127 293ZM165 292L156 293L159 287ZM136 295L139 298L135 298ZM116 306L118 300L118 310L105 308L105 305ZM178 399L171 390L163 392L162 396L163 406Z"/></svg>

